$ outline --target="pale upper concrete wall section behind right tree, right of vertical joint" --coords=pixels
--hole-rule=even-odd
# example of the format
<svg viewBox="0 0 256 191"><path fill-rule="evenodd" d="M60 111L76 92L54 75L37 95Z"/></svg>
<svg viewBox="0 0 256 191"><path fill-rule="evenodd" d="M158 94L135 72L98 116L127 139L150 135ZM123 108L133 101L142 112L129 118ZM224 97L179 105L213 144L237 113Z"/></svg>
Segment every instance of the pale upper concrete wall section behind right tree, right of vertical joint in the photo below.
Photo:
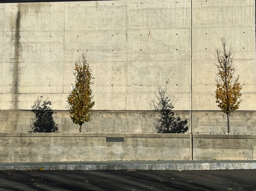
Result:
<svg viewBox="0 0 256 191"><path fill-rule="evenodd" d="M223 36L235 48L236 75L244 85L239 109L255 110L255 1L193 0L192 15L192 110L219 110L211 96L216 89L212 59Z"/></svg>

